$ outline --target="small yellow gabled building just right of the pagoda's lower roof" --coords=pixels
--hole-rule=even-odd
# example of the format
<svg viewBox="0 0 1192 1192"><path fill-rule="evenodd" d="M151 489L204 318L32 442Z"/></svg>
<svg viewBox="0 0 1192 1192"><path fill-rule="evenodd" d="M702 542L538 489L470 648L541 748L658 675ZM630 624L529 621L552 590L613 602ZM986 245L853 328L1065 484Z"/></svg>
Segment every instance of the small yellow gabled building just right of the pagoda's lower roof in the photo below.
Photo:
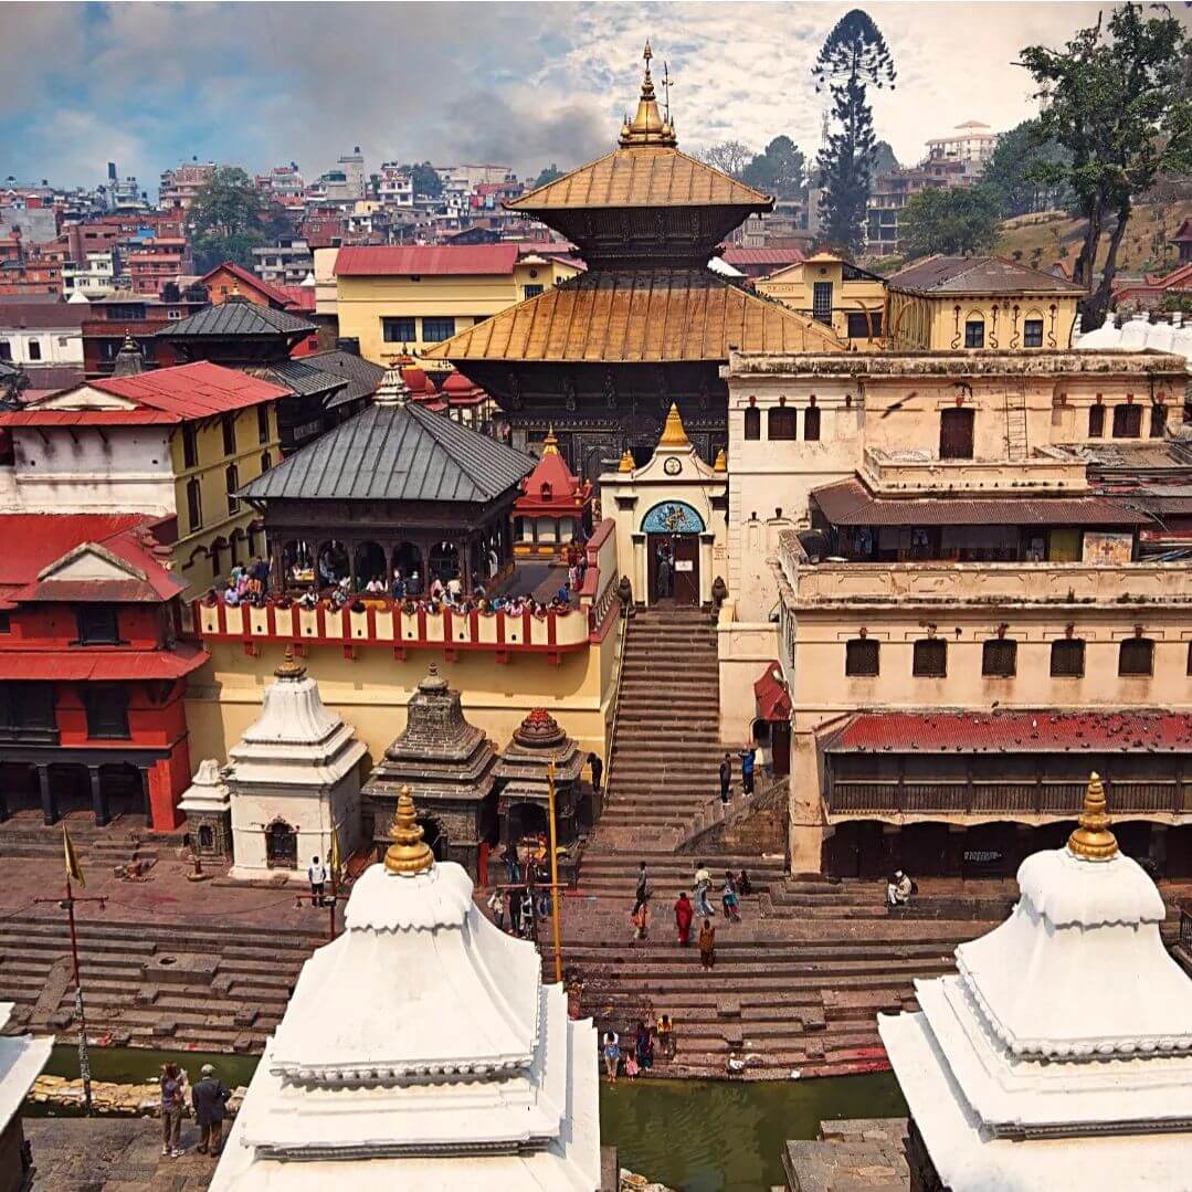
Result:
<svg viewBox="0 0 1192 1192"><path fill-rule="evenodd" d="M820 252L759 278L753 288L800 315L826 323L859 352L881 347L886 280L834 253Z"/></svg>

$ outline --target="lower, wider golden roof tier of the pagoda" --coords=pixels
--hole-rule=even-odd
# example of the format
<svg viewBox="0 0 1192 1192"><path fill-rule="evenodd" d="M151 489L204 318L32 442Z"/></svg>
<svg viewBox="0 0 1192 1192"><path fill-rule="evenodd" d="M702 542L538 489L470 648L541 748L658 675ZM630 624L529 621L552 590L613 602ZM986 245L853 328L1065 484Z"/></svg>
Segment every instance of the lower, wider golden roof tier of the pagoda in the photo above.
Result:
<svg viewBox="0 0 1192 1192"><path fill-rule="evenodd" d="M430 348L437 360L663 364L844 352L831 328L707 269L581 274Z"/></svg>

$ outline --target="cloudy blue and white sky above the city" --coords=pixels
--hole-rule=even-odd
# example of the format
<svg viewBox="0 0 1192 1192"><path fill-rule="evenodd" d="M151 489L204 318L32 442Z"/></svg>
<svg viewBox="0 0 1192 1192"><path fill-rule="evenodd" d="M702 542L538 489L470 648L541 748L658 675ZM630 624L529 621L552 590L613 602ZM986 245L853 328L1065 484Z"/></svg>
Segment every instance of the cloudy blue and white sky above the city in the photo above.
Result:
<svg viewBox="0 0 1192 1192"><path fill-rule="evenodd" d="M898 86L875 124L902 161L966 119L1032 114L1023 45L1062 44L1085 2L867 5ZM811 67L849 8L775 4L5 4L0 179L95 184L106 162L156 195L192 155L308 179L361 145L385 160L519 172L606 151L632 107L648 36L675 79L687 149L786 132L808 153L822 99Z"/></svg>

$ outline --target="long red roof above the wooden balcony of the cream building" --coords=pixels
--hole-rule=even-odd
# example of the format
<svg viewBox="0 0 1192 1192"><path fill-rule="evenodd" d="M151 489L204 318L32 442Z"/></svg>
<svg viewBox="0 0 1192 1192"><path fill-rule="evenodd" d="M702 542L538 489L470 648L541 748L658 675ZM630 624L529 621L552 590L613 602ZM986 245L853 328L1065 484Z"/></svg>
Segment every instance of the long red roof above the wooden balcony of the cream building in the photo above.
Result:
<svg viewBox="0 0 1192 1192"><path fill-rule="evenodd" d="M1137 713L857 713L827 734L830 753L1182 753L1192 715Z"/></svg>

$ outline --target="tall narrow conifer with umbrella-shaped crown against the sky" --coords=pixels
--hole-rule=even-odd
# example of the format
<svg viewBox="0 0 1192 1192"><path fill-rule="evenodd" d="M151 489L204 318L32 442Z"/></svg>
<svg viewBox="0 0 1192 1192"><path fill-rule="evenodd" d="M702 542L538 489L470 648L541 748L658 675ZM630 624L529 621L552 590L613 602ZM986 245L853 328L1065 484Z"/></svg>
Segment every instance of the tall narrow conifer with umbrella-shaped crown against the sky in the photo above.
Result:
<svg viewBox="0 0 1192 1192"><path fill-rule="evenodd" d="M893 88L894 60L869 14L853 8L828 33L812 74L817 91L831 92L836 122L819 157L824 236L830 244L857 253L864 243L876 149L867 88Z"/></svg>

